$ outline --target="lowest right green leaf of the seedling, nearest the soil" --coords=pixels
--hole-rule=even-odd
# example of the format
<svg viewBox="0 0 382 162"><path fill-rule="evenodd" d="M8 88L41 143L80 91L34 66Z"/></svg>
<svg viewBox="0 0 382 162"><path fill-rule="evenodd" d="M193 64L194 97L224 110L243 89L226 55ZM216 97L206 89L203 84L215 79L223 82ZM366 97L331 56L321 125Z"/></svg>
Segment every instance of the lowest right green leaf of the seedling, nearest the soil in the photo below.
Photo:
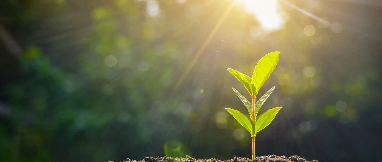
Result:
<svg viewBox="0 0 382 162"><path fill-rule="evenodd" d="M276 114L281 108L282 107L269 109L265 111L264 113L262 113L261 115L259 115L259 117L256 119L255 132L257 133L261 131L262 129L264 129L265 127L267 127L270 124L270 122L272 122L272 120L275 118Z"/></svg>

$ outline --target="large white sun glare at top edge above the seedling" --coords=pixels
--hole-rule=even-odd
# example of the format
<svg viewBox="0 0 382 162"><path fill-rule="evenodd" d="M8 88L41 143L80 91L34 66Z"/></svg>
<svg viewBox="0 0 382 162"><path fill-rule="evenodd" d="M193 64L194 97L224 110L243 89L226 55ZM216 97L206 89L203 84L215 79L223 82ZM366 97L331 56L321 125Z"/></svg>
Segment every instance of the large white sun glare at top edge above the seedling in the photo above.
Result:
<svg viewBox="0 0 382 162"><path fill-rule="evenodd" d="M236 0L249 13L253 13L264 30L280 29L284 23L278 12L278 0Z"/></svg>

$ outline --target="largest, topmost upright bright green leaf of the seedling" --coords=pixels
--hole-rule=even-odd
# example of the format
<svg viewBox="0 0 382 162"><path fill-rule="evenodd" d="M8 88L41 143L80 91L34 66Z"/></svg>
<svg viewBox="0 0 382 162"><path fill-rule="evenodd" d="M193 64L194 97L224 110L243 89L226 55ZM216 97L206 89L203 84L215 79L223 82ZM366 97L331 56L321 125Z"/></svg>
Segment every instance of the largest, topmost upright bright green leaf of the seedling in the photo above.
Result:
<svg viewBox="0 0 382 162"><path fill-rule="evenodd" d="M259 92L259 89L264 85L265 81L269 78L275 69L278 58L280 57L280 52L271 52L262 57L259 62L256 64L255 70L253 71L251 84L254 84L256 95Z"/></svg>

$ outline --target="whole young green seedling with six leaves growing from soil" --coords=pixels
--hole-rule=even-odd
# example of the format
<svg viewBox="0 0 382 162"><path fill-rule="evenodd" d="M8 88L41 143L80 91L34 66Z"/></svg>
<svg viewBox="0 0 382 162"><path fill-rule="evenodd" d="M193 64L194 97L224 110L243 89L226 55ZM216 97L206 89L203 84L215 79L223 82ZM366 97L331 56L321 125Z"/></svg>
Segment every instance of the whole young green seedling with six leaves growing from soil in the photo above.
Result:
<svg viewBox="0 0 382 162"><path fill-rule="evenodd" d="M240 98L241 102L244 103L244 106L247 108L249 117L244 115L240 111L225 108L227 111L243 125L243 127L251 133L252 138L252 160L255 160L255 139L257 132L260 132L262 129L267 127L270 122L275 118L276 114L282 107L276 107L269 109L264 113L257 116L260 107L264 104L265 100L270 96L275 87L270 88L257 102L256 95L259 92L262 85L269 78L269 75L275 69L278 58L280 57L280 52L271 52L262 57L259 62L256 64L255 70L253 71L252 78L244 75L241 72L238 72L234 69L227 69L233 76L240 81L245 89L249 92L249 95L252 98L252 103L248 101L243 95L240 94L235 88L232 88L235 94ZM256 103L256 104L255 104Z"/></svg>

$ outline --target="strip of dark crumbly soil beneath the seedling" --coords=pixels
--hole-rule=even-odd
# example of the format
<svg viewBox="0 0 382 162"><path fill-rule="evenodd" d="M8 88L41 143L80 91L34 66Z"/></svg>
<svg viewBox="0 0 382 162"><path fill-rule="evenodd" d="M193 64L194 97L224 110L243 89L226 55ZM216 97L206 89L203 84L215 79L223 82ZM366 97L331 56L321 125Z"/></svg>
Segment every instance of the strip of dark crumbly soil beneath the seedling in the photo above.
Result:
<svg viewBox="0 0 382 162"><path fill-rule="evenodd" d="M112 161L111 161L112 162ZM131 160L126 159L122 162L318 162L317 160L305 160L299 156L260 156L256 157L256 160L244 158L244 157L234 157L230 160L218 160L218 159L194 159L192 157L188 158L176 158L176 157L146 157L142 160Z"/></svg>

